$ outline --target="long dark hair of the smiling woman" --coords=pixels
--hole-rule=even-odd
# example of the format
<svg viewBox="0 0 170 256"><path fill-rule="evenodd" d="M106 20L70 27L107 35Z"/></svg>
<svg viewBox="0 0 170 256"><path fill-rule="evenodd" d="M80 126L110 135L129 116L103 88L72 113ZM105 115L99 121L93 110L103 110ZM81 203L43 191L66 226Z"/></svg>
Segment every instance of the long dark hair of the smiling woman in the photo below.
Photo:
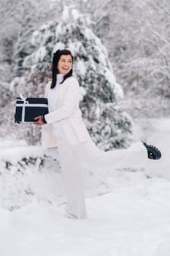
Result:
<svg viewBox="0 0 170 256"><path fill-rule="evenodd" d="M55 53L53 53L53 66L52 66L52 83L51 83L51 89L55 88L56 83L57 83L57 74L58 74L58 61L61 58L61 55L71 55L72 53L70 50L60 50L58 49ZM73 56L72 56L72 61L73 61ZM63 83L66 78L72 77L72 69L66 73L66 75L63 76L63 80L61 83Z"/></svg>

